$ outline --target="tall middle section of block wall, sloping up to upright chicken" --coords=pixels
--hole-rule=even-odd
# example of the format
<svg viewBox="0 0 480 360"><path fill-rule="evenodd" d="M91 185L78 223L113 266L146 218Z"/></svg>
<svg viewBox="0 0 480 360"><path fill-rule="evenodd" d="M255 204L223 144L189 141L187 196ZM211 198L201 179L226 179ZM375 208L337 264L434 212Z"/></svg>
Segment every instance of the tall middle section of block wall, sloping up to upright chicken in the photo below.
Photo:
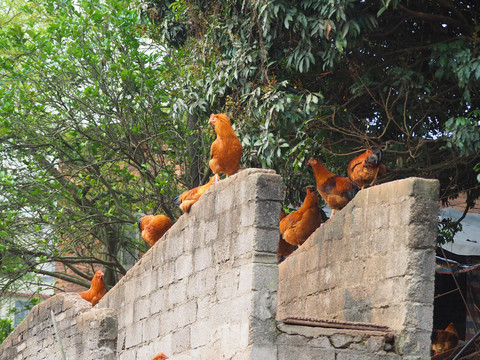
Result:
<svg viewBox="0 0 480 360"><path fill-rule="evenodd" d="M215 183L100 301L118 313L119 360L276 359L281 178Z"/></svg>

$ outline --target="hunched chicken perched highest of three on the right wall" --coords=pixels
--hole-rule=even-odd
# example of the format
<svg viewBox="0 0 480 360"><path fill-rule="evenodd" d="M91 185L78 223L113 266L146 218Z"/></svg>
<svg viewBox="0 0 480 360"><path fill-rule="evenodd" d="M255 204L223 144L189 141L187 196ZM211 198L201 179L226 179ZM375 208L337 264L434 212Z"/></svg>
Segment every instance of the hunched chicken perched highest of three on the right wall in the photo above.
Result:
<svg viewBox="0 0 480 360"><path fill-rule="evenodd" d="M348 163L348 178L359 188L372 186L387 171L381 150L367 150Z"/></svg>

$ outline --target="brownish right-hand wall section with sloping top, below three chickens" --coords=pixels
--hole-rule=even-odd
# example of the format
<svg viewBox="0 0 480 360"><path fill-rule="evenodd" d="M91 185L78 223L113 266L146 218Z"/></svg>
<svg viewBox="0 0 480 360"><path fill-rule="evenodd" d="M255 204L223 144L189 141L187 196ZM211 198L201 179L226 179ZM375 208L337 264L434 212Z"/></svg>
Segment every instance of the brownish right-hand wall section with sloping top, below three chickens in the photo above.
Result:
<svg viewBox="0 0 480 360"><path fill-rule="evenodd" d="M405 359L430 355L438 182L365 189L279 266L277 319L385 325Z"/></svg>

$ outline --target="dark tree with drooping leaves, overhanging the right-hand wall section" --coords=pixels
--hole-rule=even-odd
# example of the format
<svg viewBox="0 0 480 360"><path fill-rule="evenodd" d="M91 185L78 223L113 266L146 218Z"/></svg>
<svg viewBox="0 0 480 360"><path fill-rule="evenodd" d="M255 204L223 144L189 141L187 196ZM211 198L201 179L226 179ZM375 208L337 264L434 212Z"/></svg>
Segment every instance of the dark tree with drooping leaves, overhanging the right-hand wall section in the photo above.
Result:
<svg viewBox="0 0 480 360"><path fill-rule="evenodd" d="M184 76L202 84L191 98L233 115L244 162L279 171L287 201L312 181L305 159L323 155L344 173L365 147L384 149L382 181L436 178L442 200L466 192L468 207L480 195L475 1L153 0L145 9L156 37L200 67Z"/></svg>

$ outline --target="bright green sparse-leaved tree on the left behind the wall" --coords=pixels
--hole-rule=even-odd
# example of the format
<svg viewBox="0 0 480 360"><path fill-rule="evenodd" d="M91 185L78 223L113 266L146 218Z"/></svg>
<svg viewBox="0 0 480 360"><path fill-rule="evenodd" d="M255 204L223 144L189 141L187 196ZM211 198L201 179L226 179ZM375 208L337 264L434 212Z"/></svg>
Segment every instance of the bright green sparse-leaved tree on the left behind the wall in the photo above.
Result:
<svg viewBox="0 0 480 360"><path fill-rule="evenodd" d="M38 6L45 26L0 30L2 290L30 272L89 286L99 266L112 286L146 249L140 213L178 216L171 199L198 156L187 141L212 134L172 115L178 84L135 8Z"/></svg>

